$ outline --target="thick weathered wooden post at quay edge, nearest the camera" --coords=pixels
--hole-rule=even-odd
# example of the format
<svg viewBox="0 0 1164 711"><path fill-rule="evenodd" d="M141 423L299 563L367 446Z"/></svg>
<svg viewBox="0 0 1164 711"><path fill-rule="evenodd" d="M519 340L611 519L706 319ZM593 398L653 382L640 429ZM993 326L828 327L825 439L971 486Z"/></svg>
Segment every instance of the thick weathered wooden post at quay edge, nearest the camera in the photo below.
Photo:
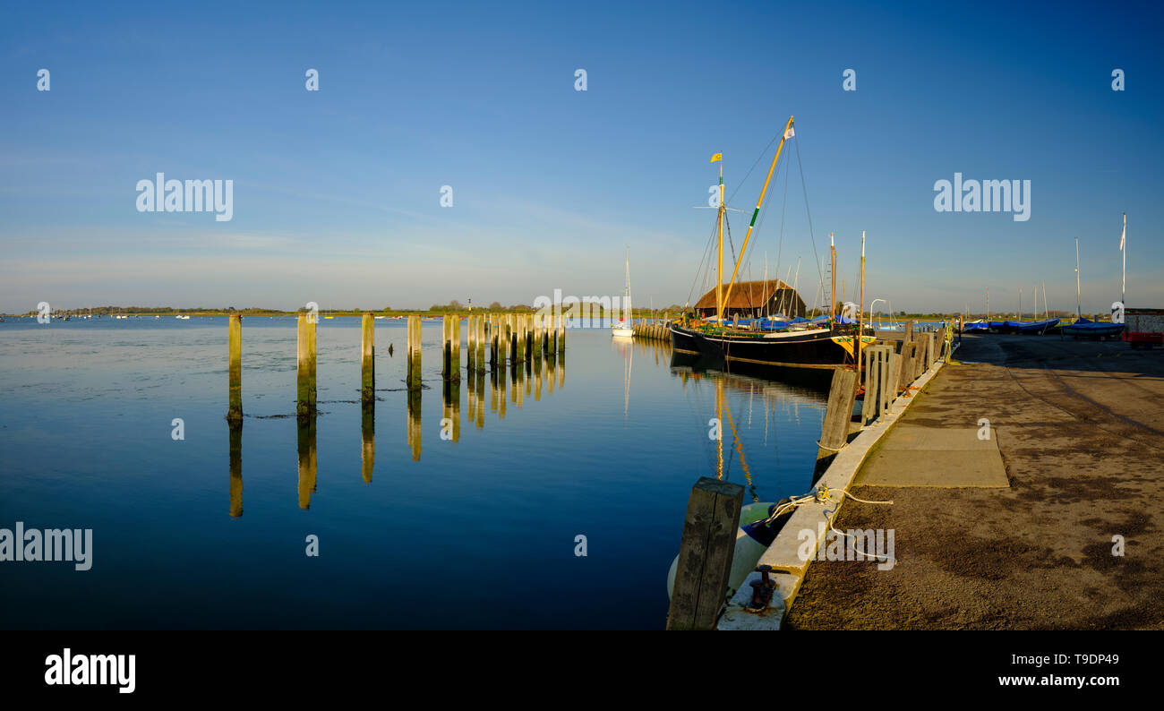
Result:
<svg viewBox="0 0 1164 711"><path fill-rule="evenodd" d="M702 477L691 486L667 630L715 628L728 591L743 504L739 484Z"/></svg>

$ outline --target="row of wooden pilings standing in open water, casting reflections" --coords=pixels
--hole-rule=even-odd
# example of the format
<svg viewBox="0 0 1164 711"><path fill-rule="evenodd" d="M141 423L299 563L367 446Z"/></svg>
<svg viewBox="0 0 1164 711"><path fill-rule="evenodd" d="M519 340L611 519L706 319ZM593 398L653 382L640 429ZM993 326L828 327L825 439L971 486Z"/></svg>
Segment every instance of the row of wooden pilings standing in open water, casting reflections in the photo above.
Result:
<svg viewBox="0 0 1164 711"><path fill-rule="evenodd" d="M315 414L315 327L313 314L299 314L297 330L296 415ZM446 315L441 336L441 378L461 379L461 321L460 315ZM407 317L406 376L409 391L421 389L419 315ZM489 368L509 361L538 363L541 358L565 357L566 320L562 314L470 314L466 319L466 370L485 372ZM229 321L229 404L226 419L242 421L242 321L232 314ZM372 314L363 314L360 342L360 393L367 405L376 398L376 326ZM389 346L391 353L391 346Z"/></svg>

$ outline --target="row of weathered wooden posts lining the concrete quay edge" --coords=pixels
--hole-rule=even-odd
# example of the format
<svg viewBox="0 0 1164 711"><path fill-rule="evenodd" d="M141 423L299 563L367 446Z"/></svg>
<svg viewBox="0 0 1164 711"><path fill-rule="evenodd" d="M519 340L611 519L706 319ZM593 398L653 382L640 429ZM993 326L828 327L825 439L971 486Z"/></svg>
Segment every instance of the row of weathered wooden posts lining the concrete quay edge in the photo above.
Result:
<svg viewBox="0 0 1164 711"><path fill-rule="evenodd" d="M865 426L888 412L899 397L913 397L913 383L939 358L950 357L953 328L915 333L907 322L903 332L882 332L878 340L861 349L864 368L852 365L832 371L829 403L821 439L817 442L816 471L812 481L828 468L836 454L849 442L859 385L865 396L859 415ZM860 376L860 381L858 379ZM680 542L675 585L667 612L668 630L714 630L726 602L724 595L732 567L736 534L744 505L744 486L733 482L702 477L691 488ZM764 576L767 578L767 575ZM759 583L752 583L753 586ZM757 611L767 609L772 588L754 588L757 596L767 596Z"/></svg>

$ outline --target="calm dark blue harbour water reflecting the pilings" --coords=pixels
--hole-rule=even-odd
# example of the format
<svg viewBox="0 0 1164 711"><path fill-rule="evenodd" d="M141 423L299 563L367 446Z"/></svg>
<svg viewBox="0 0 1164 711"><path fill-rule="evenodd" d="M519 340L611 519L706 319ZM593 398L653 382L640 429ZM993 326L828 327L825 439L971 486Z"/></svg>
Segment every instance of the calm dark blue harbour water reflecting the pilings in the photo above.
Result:
<svg viewBox="0 0 1164 711"><path fill-rule="evenodd" d="M300 428L294 321L243 320L232 471L225 318L0 323L0 528L93 529L88 571L0 563L0 627L660 630L690 486L717 470L717 391L745 503L810 484L818 389L570 330L565 362L466 378L446 405L426 321L417 418L403 321L378 320L362 420L359 320L318 337L320 414Z"/></svg>

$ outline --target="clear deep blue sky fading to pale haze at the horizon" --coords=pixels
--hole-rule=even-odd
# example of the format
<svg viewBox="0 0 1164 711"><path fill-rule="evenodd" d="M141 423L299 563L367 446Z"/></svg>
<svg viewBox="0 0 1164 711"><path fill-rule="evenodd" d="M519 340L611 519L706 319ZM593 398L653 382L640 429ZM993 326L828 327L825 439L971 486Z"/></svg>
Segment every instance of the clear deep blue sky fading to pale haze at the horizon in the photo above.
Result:
<svg viewBox="0 0 1164 711"><path fill-rule="evenodd" d="M866 305L981 310L988 286L992 311L1014 310L1021 284L1029 310L1045 282L1073 310L1078 236L1084 311L1107 311L1127 212L1128 304L1164 306L1161 10L939 5L9 7L0 311L528 304L620 293L627 246L636 303L683 303L715 215L693 209L709 157L750 213L789 114L816 247L837 234L850 297L864 229ZM772 273L778 253L781 273L801 258L811 303L796 156L751 276L765 253ZM233 179L234 219L139 213L156 172ZM935 212L954 172L1029 179L1030 219Z"/></svg>

